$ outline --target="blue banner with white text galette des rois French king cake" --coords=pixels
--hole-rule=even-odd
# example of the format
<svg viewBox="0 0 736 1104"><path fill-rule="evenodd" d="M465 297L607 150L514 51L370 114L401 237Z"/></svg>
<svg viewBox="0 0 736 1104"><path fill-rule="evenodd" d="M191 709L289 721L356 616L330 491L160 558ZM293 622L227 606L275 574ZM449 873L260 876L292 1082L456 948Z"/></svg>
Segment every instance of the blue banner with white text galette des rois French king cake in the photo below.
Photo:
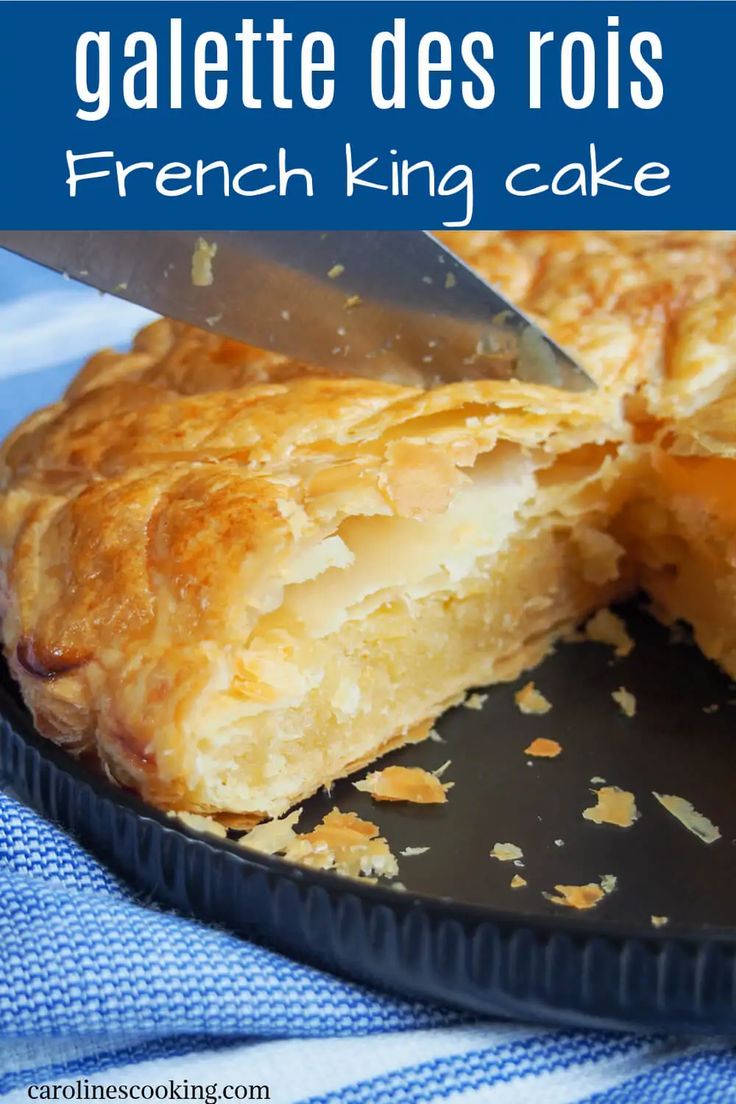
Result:
<svg viewBox="0 0 736 1104"><path fill-rule="evenodd" d="M4 229L736 229L732 2L7 2Z"/></svg>

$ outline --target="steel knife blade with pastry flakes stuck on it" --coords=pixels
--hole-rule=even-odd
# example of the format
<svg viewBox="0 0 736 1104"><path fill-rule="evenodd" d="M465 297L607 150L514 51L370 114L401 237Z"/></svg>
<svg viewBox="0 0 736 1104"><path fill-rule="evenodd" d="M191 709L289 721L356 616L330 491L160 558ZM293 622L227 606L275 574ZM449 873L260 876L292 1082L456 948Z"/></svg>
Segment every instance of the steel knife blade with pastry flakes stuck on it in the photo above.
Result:
<svg viewBox="0 0 736 1104"><path fill-rule="evenodd" d="M0 246L202 329L331 372L422 386L594 386L423 231L2 231Z"/></svg>

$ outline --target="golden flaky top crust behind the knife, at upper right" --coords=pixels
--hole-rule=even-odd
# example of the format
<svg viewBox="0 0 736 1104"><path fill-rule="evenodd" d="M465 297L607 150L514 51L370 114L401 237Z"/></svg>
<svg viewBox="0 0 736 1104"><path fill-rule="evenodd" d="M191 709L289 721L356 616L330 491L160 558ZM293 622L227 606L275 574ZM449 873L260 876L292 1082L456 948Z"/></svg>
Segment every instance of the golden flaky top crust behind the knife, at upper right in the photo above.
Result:
<svg viewBox="0 0 736 1104"><path fill-rule="evenodd" d="M575 350L638 420L681 416L732 382L733 232L441 235ZM707 390L703 391L703 386Z"/></svg>

